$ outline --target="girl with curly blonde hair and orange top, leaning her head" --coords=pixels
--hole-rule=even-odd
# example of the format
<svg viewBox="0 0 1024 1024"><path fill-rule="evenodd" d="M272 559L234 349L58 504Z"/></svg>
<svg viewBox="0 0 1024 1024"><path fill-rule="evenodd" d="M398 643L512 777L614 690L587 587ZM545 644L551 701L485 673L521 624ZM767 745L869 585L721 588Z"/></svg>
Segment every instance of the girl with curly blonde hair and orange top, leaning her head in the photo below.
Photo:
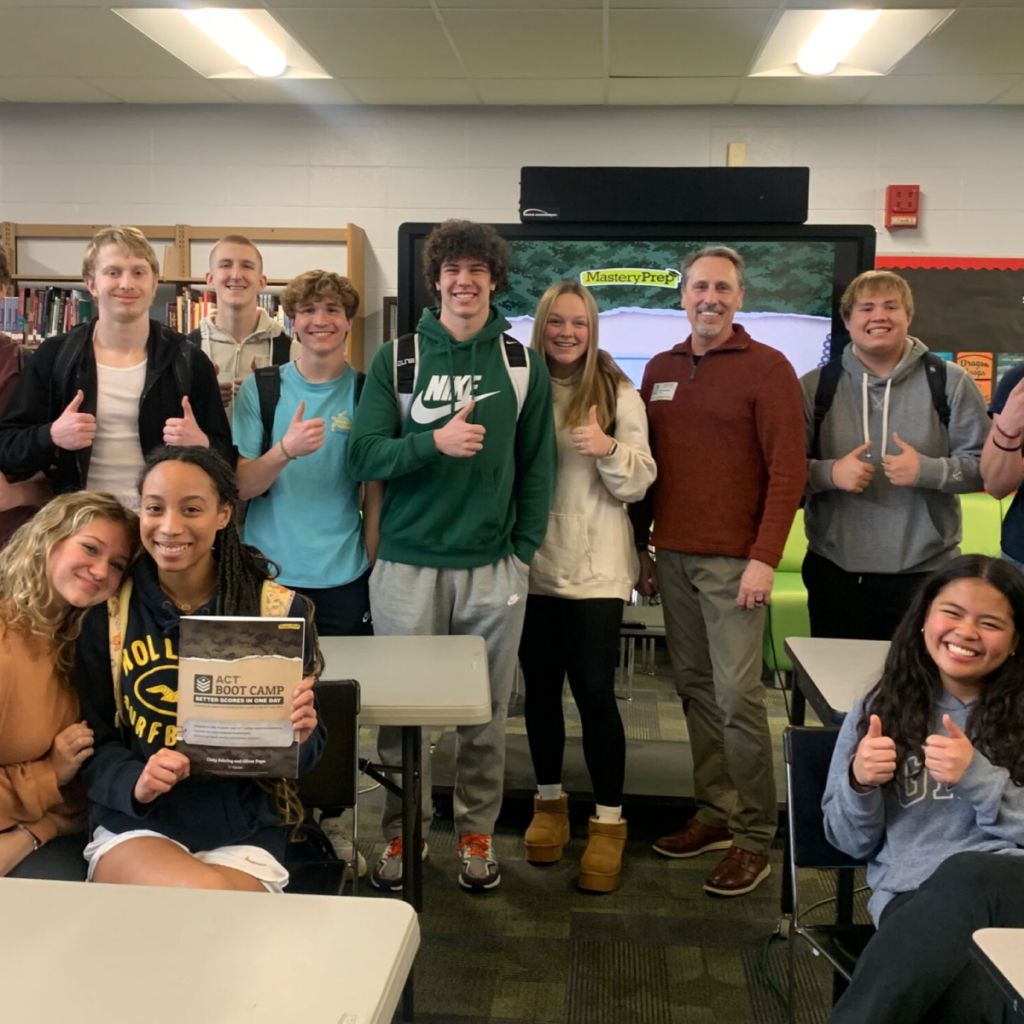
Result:
<svg viewBox="0 0 1024 1024"><path fill-rule="evenodd" d="M137 546L134 513L80 490L54 498L0 552L0 876L50 873L63 844L36 851L85 824L75 776L93 734L71 684L74 645Z"/></svg>

